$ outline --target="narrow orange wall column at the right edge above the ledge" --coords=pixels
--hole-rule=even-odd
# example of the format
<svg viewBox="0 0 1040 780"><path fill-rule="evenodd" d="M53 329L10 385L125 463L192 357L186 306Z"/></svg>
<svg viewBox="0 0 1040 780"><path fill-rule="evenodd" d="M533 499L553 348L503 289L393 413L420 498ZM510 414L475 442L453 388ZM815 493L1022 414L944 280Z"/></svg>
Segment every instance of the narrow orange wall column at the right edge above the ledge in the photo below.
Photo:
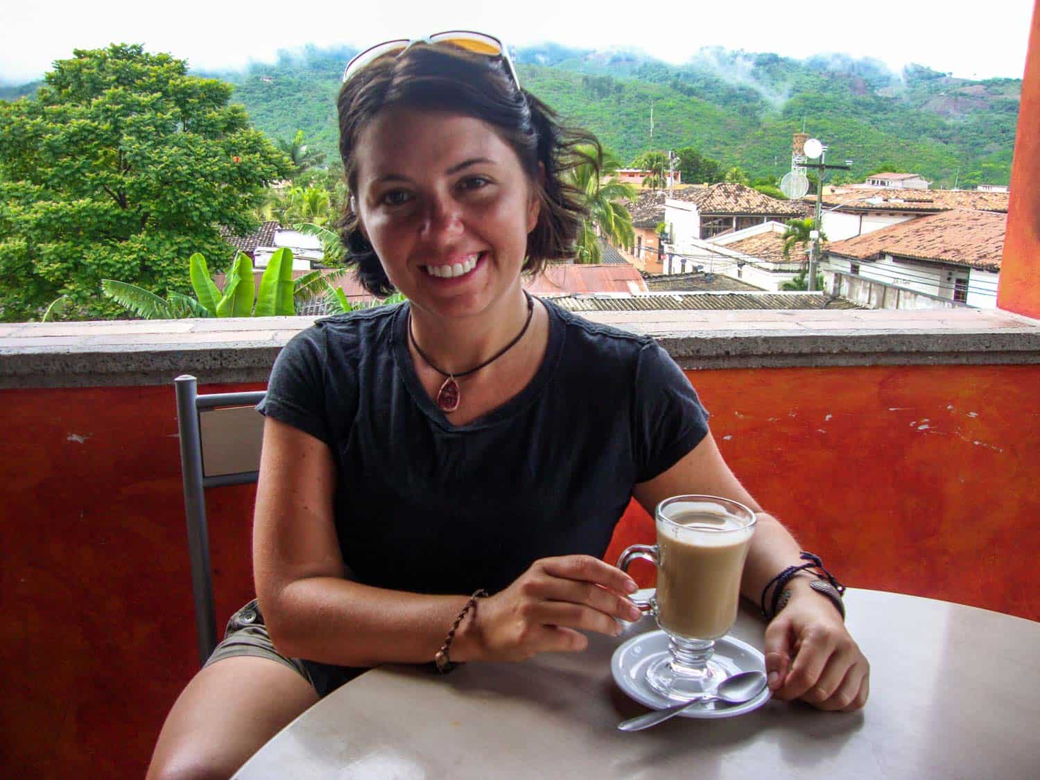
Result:
<svg viewBox="0 0 1040 780"><path fill-rule="evenodd" d="M996 305L1006 311L1040 317L1040 0L1033 7L1033 28L1025 55L1018 135L1011 166L1008 230Z"/></svg>

